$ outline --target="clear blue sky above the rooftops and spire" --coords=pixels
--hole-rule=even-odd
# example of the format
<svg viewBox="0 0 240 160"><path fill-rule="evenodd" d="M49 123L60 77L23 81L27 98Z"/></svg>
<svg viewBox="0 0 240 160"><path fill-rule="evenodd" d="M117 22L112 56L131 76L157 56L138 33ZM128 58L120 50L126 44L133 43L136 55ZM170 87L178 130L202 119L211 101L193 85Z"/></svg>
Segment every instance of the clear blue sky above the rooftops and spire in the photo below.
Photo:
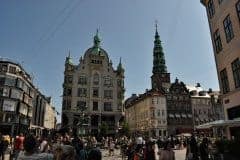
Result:
<svg viewBox="0 0 240 160"><path fill-rule="evenodd" d="M122 58L127 98L151 87L156 21L171 81L219 90L200 0L1 0L0 57L18 61L61 112L65 58L78 64L98 28L115 68Z"/></svg>

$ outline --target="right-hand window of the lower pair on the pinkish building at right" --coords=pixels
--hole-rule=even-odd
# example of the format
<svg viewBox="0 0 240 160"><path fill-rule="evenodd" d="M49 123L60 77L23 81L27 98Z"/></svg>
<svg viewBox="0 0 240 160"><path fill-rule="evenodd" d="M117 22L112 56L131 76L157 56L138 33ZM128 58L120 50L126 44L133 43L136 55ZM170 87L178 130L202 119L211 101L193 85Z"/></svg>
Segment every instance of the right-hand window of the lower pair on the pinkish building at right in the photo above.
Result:
<svg viewBox="0 0 240 160"><path fill-rule="evenodd" d="M235 87L240 87L240 61L239 58L235 59L232 62L232 72L233 72L233 78L235 82Z"/></svg>

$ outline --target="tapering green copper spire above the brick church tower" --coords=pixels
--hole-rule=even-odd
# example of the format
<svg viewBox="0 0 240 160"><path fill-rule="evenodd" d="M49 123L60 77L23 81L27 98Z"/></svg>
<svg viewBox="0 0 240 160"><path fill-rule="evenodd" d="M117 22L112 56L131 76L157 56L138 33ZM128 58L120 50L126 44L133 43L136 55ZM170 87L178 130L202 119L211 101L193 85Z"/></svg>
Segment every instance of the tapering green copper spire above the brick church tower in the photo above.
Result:
<svg viewBox="0 0 240 160"><path fill-rule="evenodd" d="M153 70L152 70L152 73L153 74L167 73L165 57L164 57L164 53L163 53L160 36L158 34L157 23L156 23L155 40L154 40L154 48L153 48Z"/></svg>

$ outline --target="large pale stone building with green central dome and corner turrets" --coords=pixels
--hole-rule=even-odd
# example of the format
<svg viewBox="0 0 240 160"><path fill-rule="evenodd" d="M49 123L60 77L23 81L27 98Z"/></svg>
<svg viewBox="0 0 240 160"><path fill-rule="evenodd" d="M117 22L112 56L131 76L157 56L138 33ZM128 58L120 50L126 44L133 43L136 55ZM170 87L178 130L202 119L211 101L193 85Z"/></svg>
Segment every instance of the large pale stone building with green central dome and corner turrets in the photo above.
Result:
<svg viewBox="0 0 240 160"><path fill-rule="evenodd" d="M117 69L113 68L100 42L97 32L93 46L77 65L73 64L70 55L66 58L63 128L83 128L85 132L98 134L100 126L105 123L109 126L108 134L118 132L119 120L123 116L124 69L121 60Z"/></svg>

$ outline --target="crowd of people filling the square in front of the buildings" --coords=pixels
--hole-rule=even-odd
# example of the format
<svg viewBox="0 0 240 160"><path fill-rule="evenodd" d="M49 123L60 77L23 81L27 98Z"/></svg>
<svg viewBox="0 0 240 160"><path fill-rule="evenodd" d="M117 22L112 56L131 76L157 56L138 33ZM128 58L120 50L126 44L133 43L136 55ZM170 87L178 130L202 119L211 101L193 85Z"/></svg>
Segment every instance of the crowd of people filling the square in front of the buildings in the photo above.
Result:
<svg viewBox="0 0 240 160"><path fill-rule="evenodd" d="M1 135L0 135L1 136ZM127 160L175 160L175 149L186 148L187 160L209 160L209 140L191 137L79 137L77 135L56 134L37 137L20 134L10 140L1 136L0 157L9 146L11 159L16 160L101 160L101 150L108 150L108 156L121 151L122 159Z"/></svg>

